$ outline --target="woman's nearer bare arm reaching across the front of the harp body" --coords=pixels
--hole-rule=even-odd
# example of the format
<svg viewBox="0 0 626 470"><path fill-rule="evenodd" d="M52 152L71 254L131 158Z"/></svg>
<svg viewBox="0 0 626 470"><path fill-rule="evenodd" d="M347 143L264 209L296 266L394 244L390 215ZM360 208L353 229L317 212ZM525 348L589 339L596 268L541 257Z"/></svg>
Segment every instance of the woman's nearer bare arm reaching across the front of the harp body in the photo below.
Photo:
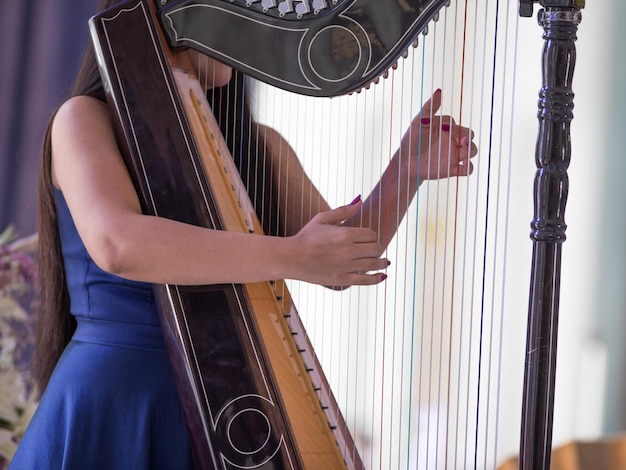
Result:
<svg viewBox="0 0 626 470"><path fill-rule="evenodd" d="M154 283L212 284L291 278L324 285L374 284L387 260L369 229L342 227L360 203L314 216L289 237L222 232L141 214L106 106L76 97L52 130L53 182L94 261Z"/></svg>

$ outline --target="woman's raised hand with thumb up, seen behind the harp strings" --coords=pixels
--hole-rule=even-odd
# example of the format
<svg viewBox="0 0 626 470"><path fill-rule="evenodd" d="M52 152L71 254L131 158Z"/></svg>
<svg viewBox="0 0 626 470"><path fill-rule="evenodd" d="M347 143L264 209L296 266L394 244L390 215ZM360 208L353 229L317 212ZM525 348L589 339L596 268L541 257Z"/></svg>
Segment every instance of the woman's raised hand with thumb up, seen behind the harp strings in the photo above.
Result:
<svg viewBox="0 0 626 470"><path fill-rule="evenodd" d="M474 169L470 160L478 153L474 133L457 125L450 116L436 115L440 107L441 90L437 90L413 120L400 144L402 161L408 163L411 179L418 183L467 176Z"/></svg>

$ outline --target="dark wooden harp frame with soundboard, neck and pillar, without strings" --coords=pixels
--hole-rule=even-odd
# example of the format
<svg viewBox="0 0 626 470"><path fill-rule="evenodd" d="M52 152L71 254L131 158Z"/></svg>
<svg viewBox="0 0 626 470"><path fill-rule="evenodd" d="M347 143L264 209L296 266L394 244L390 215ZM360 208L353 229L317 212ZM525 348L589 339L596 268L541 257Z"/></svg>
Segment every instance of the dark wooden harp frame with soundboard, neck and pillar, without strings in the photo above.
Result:
<svg viewBox="0 0 626 470"><path fill-rule="evenodd" d="M143 210L214 229L261 233L188 58L176 47L193 47L288 91L337 96L376 81L447 2L155 3L128 0L90 23ZM556 31L547 41L556 42L544 51L540 103L524 468L549 467L554 367L544 366L555 361L556 330L539 330L552 328L558 316L571 120L571 114L553 111L569 109L573 99L567 91L573 61L561 59L571 55L580 8L576 0L555 0L554 7L549 0L541 3L568 13L548 14L544 25ZM529 9L532 3L523 1L520 12ZM545 279L553 280L550 287L537 292L536 284L545 286ZM167 285L155 292L199 468L365 468L282 281ZM553 344L536 345L546 337Z"/></svg>

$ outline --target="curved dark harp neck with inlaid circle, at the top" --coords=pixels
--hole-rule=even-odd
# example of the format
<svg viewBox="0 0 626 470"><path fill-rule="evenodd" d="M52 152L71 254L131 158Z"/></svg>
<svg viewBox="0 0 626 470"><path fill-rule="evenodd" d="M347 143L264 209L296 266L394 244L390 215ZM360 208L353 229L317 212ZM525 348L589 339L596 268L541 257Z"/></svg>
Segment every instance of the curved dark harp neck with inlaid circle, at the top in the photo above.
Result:
<svg viewBox="0 0 626 470"><path fill-rule="evenodd" d="M385 73L445 3L171 0L159 16L172 47L192 47L288 91L337 96Z"/></svg>

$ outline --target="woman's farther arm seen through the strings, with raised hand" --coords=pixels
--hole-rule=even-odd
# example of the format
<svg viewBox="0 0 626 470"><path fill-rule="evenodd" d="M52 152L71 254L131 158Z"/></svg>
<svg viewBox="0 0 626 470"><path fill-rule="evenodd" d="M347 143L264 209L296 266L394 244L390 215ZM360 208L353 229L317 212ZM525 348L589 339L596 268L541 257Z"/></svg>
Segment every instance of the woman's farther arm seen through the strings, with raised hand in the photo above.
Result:
<svg viewBox="0 0 626 470"><path fill-rule="evenodd" d="M472 173L470 157L477 153L473 133L450 116L436 116L441 106L437 90L405 133L400 148L365 198L361 210L345 222L369 227L388 244L397 231L421 182ZM329 206L308 178L295 151L275 130L261 126L276 177L286 234L297 233Z"/></svg>

